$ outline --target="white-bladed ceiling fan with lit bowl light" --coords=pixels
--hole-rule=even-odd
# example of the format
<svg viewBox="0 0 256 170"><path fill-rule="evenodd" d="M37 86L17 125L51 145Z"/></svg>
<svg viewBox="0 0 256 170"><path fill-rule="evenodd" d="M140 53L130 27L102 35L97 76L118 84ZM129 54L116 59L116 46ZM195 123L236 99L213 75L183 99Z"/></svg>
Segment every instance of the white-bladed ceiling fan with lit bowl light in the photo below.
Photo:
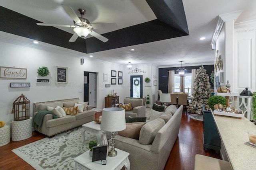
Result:
<svg viewBox="0 0 256 170"><path fill-rule="evenodd" d="M78 9L78 12L81 14L81 17L78 17L74 10L70 6L65 6L61 4L66 13L74 20L74 25L59 25L59 24L50 24L50 23L36 23L37 25L42 26L53 26L53 27L72 27L74 28L74 34L70 38L69 42L74 42L78 37L85 38L88 34L94 36L95 38L103 41L104 43L108 41L106 37L93 31L93 27L89 20L83 18L83 15L86 13L84 9ZM93 24L96 26L96 24Z"/></svg>

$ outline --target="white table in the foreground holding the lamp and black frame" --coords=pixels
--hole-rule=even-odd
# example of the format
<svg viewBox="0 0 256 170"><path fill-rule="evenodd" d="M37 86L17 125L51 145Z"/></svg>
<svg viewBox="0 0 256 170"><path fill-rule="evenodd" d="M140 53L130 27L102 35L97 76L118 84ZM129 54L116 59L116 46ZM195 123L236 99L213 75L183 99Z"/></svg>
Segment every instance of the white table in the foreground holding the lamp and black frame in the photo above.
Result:
<svg viewBox="0 0 256 170"><path fill-rule="evenodd" d="M115 148L116 149L116 148ZM92 162L89 151L84 152L80 156L74 158L75 170L120 170L124 166L125 170L130 170L129 153L120 149L116 149L117 156L107 156L106 165L102 165L101 160Z"/></svg>

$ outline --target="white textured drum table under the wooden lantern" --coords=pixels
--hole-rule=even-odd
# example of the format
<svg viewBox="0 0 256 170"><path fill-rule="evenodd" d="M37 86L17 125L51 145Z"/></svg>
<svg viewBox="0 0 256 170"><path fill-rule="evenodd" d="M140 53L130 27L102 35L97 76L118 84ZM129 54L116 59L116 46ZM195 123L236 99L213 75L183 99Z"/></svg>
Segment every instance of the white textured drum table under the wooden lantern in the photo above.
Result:
<svg viewBox="0 0 256 170"><path fill-rule="evenodd" d="M22 141L32 136L32 117L27 120L12 121L12 141Z"/></svg>

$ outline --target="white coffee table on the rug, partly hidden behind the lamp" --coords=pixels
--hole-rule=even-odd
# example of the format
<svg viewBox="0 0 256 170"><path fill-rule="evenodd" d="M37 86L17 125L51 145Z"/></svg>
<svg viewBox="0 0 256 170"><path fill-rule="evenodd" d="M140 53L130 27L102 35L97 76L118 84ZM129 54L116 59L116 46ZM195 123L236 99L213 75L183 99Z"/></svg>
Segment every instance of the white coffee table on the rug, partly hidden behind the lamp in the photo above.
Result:
<svg viewBox="0 0 256 170"><path fill-rule="evenodd" d="M101 134L104 133L104 131L102 131L100 129L100 124L99 123L96 123L95 121L85 123L84 125L82 125L82 138L83 138L82 142L84 142L84 131L89 131L89 132L92 132L92 133L96 133L98 143L101 140Z"/></svg>

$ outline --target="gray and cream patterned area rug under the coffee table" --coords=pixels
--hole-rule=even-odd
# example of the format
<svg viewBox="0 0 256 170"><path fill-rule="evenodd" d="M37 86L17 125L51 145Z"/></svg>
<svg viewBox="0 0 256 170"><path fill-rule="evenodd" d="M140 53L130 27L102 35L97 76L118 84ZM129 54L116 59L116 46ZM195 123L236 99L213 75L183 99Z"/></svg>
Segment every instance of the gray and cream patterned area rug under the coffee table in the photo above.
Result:
<svg viewBox="0 0 256 170"><path fill-rule="evenodd" d="M73 170L74 158L88 150L91 140L97 140L94 133L85 131L82 143L82 126L44 138L12 152L20 156L36 170Z"/></svg>

